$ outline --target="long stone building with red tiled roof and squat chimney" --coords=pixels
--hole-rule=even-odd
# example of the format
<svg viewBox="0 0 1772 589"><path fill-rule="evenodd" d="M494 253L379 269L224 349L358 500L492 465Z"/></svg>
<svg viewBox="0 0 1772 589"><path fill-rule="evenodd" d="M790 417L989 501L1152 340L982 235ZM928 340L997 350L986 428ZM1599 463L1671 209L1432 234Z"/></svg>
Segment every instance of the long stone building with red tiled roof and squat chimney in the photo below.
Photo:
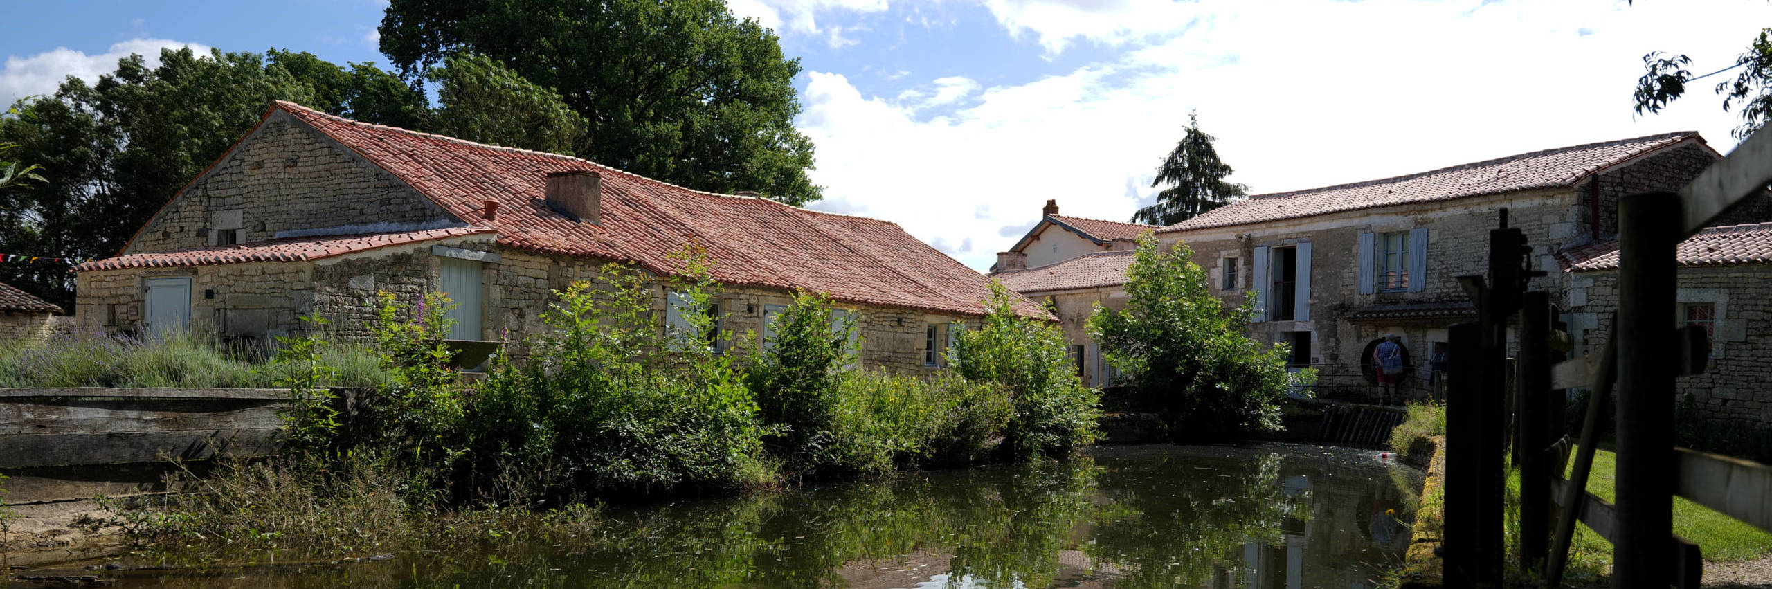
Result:
<svg viewBox="0 0 1772 589"><path fill-rule="evenodd" d="M703 250L723 284L709 309L659 286L672 325L711 312L764 332L792 291L856 319L861 364L944 364L950 321L982 316L989 279L897 224L688 190L592 161L464 142L275 103L128 247L76 266L78 319L264 341L319 314L367 337L377 291L447 293L450 339L542 330L553 289L604 263L675 275ZM1030 300L1028 316L1049 318Z"/></svg>

